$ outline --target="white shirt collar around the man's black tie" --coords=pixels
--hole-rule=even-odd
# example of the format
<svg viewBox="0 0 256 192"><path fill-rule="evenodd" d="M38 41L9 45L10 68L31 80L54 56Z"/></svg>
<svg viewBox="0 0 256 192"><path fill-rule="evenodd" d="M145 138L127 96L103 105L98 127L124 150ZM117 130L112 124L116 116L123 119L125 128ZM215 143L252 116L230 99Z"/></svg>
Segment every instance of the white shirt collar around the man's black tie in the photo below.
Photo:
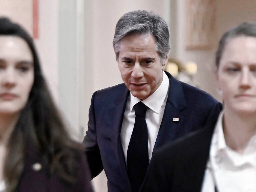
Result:
<svg viewBox="0 0 256 192"><path fill-rule="evenodd" d="M163 72L163 81L161 85L157 88L157 90L152 95L144 99L142 103L144 103L152 111L159 114L161 106L167 96L168 89L169 89L169 78ZM141 100L137 97L134 97L131 93L130 93L130 96L131 96L130 110L132 111L133 106L136 103L140 102Z"/></svg>

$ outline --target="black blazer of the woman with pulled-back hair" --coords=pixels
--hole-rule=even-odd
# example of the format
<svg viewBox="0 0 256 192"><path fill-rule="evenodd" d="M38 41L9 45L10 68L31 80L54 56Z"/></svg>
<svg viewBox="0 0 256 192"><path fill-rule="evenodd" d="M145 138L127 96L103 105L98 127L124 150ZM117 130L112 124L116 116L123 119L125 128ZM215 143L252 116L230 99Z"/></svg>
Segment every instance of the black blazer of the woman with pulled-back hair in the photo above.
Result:
<svg viewBox="0 0 256 192"><path fill-rule="evenodd" d="M200 192L215 124L158 149L141 192Z"/></svg>

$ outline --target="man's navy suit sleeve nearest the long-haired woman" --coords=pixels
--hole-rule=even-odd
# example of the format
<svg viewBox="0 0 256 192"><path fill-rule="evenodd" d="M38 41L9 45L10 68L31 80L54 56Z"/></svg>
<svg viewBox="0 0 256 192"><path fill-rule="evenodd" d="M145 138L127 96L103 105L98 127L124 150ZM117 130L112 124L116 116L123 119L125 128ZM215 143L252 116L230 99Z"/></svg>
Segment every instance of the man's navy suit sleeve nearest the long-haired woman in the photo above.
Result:
<svg viewBox="0 0 256 192"><path fill-rule="evenodd" d="M96 92L92 95L91 106L89 109L88 131L86 131L86 135L83 140L83 144L85 146L85 154L87 156L92 178L96 177L103 170L96 135L97 130L94 110L95 94Z"/></svg>

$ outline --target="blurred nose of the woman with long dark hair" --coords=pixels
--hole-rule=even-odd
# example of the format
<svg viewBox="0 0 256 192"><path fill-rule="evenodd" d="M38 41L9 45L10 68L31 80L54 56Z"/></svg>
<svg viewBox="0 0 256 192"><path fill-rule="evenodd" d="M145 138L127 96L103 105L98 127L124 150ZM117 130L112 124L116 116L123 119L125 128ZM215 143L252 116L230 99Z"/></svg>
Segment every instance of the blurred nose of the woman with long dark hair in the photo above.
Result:
<svg viewBox="0 0 256 192"><path fill-rule="evenodd" d="M12 68L6 68L2 73L0 73L1 77L1 84L7 88L11 88L16 84L16 75L15 71Z"/></svg>

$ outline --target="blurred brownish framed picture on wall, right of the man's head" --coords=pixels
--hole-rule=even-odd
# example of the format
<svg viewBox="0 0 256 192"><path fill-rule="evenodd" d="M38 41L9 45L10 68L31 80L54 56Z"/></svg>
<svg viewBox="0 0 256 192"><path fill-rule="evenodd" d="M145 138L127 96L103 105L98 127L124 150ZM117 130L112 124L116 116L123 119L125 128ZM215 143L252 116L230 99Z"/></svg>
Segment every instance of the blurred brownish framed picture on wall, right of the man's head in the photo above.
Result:
<svg viewBox="0 0 256 192"><path fill-rule="evenodd" d="M215 0L186 0L186 49L206 50L216 37Z"/></svg>

